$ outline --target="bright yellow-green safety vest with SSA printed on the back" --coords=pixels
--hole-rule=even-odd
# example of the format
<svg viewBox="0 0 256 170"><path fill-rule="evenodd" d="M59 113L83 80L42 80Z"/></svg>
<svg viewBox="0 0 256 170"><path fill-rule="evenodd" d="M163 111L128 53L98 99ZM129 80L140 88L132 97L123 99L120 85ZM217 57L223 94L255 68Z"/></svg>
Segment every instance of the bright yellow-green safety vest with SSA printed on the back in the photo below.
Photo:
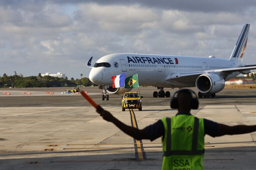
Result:
<svg viewBox="0 0 256 170"><path fill-rule="evenodd" d="M163 170L203 170L204 120L193 115L162 118Z"/></svg>

